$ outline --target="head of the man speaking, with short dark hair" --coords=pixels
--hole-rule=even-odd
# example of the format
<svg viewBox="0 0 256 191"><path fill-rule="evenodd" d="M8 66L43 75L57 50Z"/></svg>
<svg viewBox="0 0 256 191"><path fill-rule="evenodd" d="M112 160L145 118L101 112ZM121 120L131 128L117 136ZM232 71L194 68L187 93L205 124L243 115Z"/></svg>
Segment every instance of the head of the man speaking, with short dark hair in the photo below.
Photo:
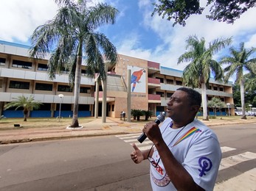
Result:
<svg viewBox="0 0 256 191"><path fill-rule="evenodd" d="M180 87L167 102L167 117L176 122L195 118L201 107L201 94L187 87Z"/></svg>

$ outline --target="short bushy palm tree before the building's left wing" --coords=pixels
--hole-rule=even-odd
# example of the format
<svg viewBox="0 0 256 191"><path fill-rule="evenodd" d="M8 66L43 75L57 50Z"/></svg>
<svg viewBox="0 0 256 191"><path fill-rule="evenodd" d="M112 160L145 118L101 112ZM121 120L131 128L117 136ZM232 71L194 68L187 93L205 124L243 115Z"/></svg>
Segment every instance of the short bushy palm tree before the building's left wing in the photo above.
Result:
<svg viewBox="0 0 256 191"><path fill-rule="evenodd" d="M24 95L20 95L18 98L13 99L15 99L15 101L11 101L10 103L6 104L4 109L15 107L15 110L17 110L18 108L23 107L24 121L27 121L27 114L32 109L39 109L42 104L40 101L35 101L32 95L30 95L30 98L27 98Z"/></svg>

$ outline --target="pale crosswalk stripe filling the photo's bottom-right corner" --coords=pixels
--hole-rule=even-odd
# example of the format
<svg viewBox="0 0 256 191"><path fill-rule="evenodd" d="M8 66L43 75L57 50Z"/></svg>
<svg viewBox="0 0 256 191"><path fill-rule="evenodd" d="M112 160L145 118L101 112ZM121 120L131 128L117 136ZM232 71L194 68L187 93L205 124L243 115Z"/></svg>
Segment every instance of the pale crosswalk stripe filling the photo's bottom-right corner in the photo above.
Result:
<svg viewBox="0 0 256 191"><path fill-rule="evenodd" d="M246 171L227 181L215 184L214 191L256 190L256 168Z"/></svg>

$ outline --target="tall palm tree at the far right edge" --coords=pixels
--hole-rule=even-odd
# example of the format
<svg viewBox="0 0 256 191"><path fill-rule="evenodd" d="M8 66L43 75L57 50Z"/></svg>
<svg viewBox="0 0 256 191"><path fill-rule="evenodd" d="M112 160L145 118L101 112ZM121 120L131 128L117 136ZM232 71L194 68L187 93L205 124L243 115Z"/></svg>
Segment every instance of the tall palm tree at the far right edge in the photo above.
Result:
<svg viewBox="0 0 256 191"><path fill-rule="evenodd" d="M226 72L224 81L227 82L229 78L235 74L235 83L240 84L243 119L246 119L244 104L244 73L246 71L256 73L256 58L249 59L255 51L256 48L252 47L246 49L244 48L244 43L240 43L238 50L234 47L229 48L230 56L221 59L221 63L227 65L226 68L224 68L224 72Z"/></svg>

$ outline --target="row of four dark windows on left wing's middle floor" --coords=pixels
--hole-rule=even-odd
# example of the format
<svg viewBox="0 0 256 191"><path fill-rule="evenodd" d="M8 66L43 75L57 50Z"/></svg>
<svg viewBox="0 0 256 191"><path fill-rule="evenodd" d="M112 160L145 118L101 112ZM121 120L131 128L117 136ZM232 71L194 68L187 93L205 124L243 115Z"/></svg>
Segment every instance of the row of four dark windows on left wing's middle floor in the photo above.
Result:
<svg viewBox="0 0 256 191"><path fill-rule="evenodd" d="M9 88L30 90L30 82L10 81ZM35 83L35 90L52 91L52 84ZM68 85L58 85L59 92L72 92ZM80 93L91 93L91 87L80 87Z"/></svg>

